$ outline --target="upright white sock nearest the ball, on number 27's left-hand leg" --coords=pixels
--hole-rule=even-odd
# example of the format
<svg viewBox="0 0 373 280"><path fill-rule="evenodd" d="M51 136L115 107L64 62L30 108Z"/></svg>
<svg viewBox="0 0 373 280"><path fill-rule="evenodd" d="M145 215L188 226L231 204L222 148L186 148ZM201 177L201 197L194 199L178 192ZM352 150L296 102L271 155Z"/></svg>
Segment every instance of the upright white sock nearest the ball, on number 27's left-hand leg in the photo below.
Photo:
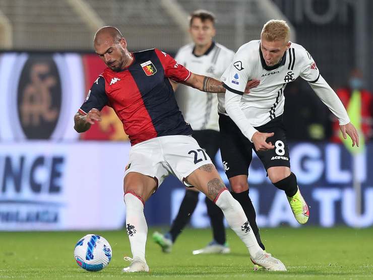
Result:
<svg viewBox="0 0 373 280"><path fill-rule="evenodd" d="M141 197L133 192L125 194L126 228L130 239L132 256L134 259L145 261L145 244L148 225L144 216L144 204Z"/></svg>

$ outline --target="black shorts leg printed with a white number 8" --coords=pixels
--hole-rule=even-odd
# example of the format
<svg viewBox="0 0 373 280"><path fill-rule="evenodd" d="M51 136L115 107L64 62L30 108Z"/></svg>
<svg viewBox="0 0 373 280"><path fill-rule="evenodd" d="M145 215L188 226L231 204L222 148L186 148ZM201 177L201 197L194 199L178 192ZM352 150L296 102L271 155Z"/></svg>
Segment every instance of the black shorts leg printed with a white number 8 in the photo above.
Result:
<svg viewBox="0 0 373 280"><path fill-rule="evenodd" d="M267 172L271 167L290 168L289 147L287 145L286 133L282 123L280 122L276 126L268 127L264 125L258 130L260 132L274 132L272 137L267 138L267 142L271 142L275 148L268 151L255 151Z"/></svg>

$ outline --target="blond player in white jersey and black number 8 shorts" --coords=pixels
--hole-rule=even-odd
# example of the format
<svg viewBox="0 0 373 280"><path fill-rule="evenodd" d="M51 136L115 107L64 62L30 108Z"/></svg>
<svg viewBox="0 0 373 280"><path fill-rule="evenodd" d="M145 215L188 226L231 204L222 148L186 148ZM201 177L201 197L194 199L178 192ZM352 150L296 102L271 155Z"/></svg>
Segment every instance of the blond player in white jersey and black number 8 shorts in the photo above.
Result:
<svg viewBox="0 0 373 280"><path fill-rule="evenodd" d="M295 219L304 224L309 216L308 206L290 171L282 122L286 84L298 76L303 78L338 118L343 137L346 139L347 133L352 146L359 145L359 138L342 102L320 75L312 56L289 38L286 22L271 20L264 25L261 40L250 41L236 52L222 76L227 91L225 100L219 98L220 149L233 191L248 189L247 169L254 149L271 182L285 191ZM252 79L260 79L260 85L243 95L247 81Z"/></svg>

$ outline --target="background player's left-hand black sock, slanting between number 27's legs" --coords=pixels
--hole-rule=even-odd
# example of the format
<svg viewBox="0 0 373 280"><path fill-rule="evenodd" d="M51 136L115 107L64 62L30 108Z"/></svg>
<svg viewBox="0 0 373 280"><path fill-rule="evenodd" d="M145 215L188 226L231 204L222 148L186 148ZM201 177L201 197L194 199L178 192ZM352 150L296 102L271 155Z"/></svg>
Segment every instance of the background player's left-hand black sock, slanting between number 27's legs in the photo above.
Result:
<svg viewBox="0 0 373 280"><path fill-rule="evenodd" d="M196 209L198 203L198 191L187 190L185 191L184 198L181 201L179 212L175 220L173 220L169 233L171 234L172 242L174 242L183 228L191 220L192 214Z"/></svg>

